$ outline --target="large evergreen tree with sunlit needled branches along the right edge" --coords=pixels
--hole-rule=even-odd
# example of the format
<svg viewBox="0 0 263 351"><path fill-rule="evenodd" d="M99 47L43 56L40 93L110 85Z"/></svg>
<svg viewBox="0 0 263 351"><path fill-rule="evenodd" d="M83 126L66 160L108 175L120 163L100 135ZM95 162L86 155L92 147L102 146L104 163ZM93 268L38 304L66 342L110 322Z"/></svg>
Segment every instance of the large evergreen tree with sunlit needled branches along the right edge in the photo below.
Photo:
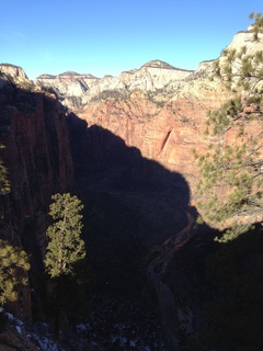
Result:
<svg viewBox="0 0 263 351"><path fill-rule="evenodd" d="M251 19L254 41L261 45L262 14ZM205 219L229 228L220 239L225 242L263 217L263 52L226 49L214 67L232 99L208 115L208 151L194 151L202 176L197 208Z"/></svg>

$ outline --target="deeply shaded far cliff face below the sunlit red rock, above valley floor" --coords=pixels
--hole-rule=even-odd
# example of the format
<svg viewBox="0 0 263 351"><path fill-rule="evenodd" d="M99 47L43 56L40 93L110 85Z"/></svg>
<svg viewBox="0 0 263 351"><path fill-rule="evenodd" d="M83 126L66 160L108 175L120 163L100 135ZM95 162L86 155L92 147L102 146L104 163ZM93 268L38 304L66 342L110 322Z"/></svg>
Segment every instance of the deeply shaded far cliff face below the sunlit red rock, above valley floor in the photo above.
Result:
<svg viewBox="0 0 263 351"><path fill-rule="evenodd" d="M69 116L76 174L90 186L157 194L181 207L188 206L190 189L184 177L155 160L144 158L136 147L107 129Z"/></svg>

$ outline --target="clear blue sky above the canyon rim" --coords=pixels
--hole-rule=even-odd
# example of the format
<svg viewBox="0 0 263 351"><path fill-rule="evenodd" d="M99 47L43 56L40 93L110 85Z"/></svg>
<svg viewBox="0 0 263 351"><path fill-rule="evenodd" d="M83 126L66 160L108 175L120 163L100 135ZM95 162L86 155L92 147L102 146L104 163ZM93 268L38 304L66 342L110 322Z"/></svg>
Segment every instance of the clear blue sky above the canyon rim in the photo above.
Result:
<svg viewBox="0 0 263 351"><path fill-rule="evenodd" d="M152 59L196 69L247 30L250 12L263 12L262 0L3 0L0 63L30 79L118 76Z"/></svg>

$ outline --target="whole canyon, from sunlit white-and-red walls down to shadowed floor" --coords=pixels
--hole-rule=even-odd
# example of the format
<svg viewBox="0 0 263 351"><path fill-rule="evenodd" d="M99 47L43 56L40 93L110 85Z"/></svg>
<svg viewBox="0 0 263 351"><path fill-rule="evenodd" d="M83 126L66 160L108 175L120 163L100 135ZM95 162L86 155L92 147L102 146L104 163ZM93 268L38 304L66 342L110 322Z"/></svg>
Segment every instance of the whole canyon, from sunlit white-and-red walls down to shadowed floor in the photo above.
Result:
<svg viewBox="0 0 263 351"><path fill-rule="evenodd" d="M244 43L260 47L249 31L230 47ZM18 318L45 319L37 291L48 205L54 193L71 192L84 204L94 279L90 322L71 349L92 350L93 340L105 351L197 350L187 339L207 325L215 287L206 261L220 249L217 230L196 223L193 149L207 149L207 113L229 99L211 72L213 61L188 71L152 60L119 77L68 71L30 81L22 68L0 65L1 157L12 185L0 197L1 238L22 246L32 264L30 285L10 306Z"/></svg>

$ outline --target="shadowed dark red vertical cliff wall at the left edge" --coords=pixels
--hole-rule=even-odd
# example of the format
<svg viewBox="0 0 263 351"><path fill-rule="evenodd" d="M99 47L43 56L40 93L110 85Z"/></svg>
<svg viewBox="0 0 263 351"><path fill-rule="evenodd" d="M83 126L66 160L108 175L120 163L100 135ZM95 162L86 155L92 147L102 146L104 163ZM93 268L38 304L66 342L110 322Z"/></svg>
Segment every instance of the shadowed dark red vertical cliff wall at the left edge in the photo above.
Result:
<svg viewBox="0 0 263 351"><path fill-rule="evenodd" d="M73 167L64 107L56 95L12 80L0 76L0 144L5 146L1 158L11 181L11 193L0 199L1 238L23 245L36 273L43 268L50 197L73 189ZM21 317L28 317L30 299L26 292L26 308L18 306L26 314Z"/></svg>

